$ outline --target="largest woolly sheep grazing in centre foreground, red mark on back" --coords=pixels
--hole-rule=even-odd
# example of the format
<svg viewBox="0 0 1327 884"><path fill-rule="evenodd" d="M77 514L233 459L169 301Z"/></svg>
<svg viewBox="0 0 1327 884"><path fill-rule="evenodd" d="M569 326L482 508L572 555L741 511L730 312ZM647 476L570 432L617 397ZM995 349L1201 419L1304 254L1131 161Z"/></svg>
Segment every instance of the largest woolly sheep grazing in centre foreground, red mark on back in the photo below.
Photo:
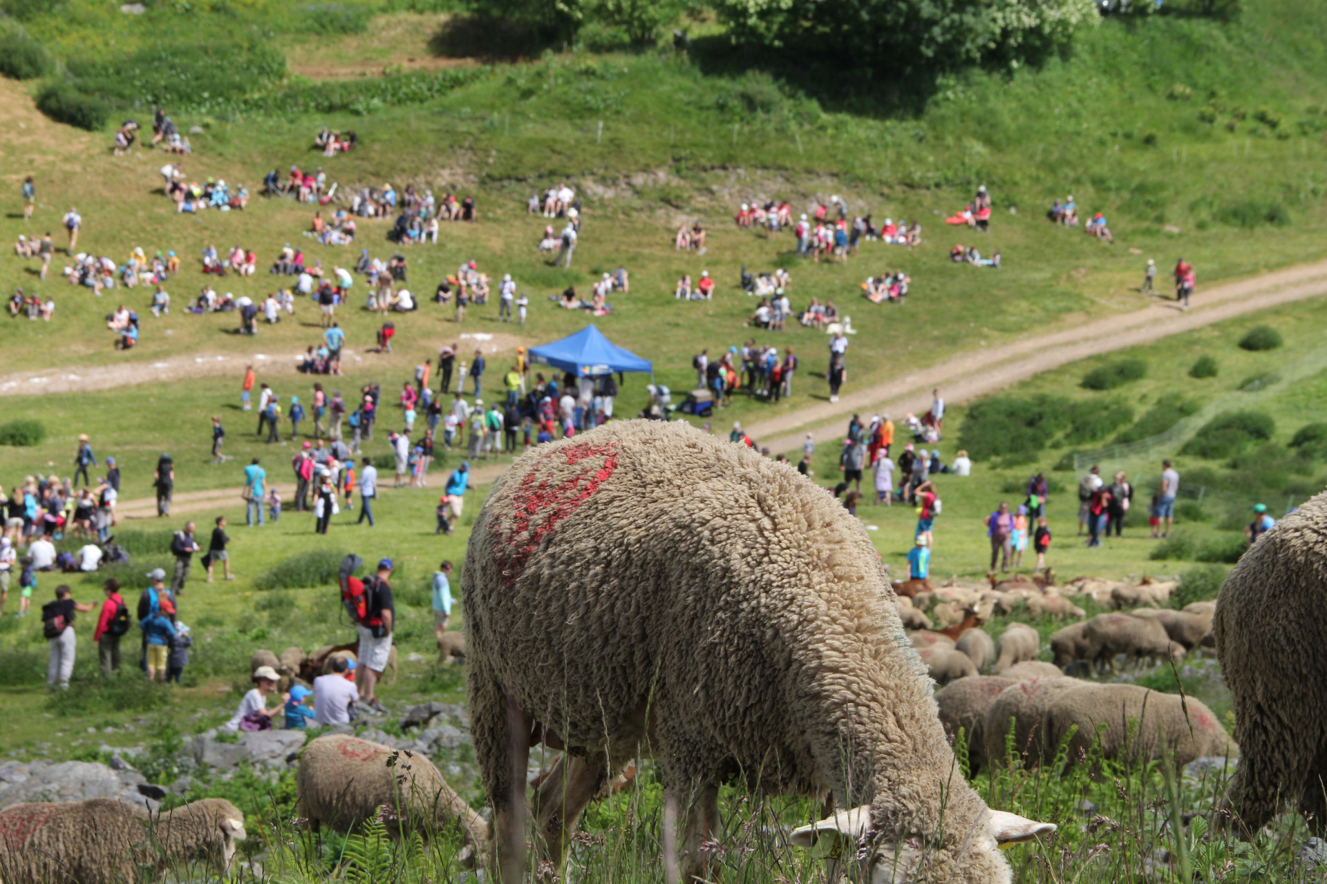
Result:
<svg viewBox="0 0 1327 884"><path fill-rule="evenodd" d="M585 804L648 750L682 880L713 875L701 844L721 830L721 785L744 775L852 808L795 846L867 835L868 875L925 852L937 880L1009 881L998 843L1054 827L963 782L890 595L860 522L743 445L628 420L519 457L462 573L494 871L520 880L524 770L544 742L571 758L536 793L555 865Z"/></svg>

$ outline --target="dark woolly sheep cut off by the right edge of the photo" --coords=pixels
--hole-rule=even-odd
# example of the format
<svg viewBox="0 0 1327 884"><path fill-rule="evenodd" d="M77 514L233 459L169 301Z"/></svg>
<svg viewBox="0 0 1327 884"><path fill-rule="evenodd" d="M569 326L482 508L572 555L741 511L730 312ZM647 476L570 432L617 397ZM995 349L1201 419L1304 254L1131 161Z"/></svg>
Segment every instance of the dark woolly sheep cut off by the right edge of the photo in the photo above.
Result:
<svg viewBox="0 0 1327 884"><path fill-rule="evenodd" d="M1324 834L1327 799L1327 496L1286 516L1239 559L1217 598L1213 637L1242 757L1230 783L1241 834L1298 802Z"/></svg>

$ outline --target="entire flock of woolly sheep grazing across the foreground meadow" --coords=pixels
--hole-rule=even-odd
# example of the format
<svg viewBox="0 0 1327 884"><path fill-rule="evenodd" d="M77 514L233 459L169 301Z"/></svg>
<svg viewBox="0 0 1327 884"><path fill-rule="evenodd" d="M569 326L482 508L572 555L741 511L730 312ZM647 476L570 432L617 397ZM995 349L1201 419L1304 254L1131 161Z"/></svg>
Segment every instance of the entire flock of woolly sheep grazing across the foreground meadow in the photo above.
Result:
<svg viewBox="0 0 1327 884"><path fill-rule="evenodd" d="M1024 624L994 643L973 627L1019 600L1082 618L1059 590L896 595L860 524L795 470L677 424L608 424L519 459L470 538L467 698L490 822L426 758L349 736L305 747L301 812L346 830L386 804L391 819L455 827L491 876L519 881L527 850L556 868L584 807L653 757L665 832L678 840L665 857L682 880L710 877L702 844L722 831L719 787L742 781L821 801L824 819L791 843L841 844L832 855L856 856L873 884L1005 884L1001 847L1055 824L987 807L955 763L959 732L974 770L1005 758L1010 733L1030 765L1051 763L1064 741L1074 763L1099 730L1104 757L1156 758L1162 741L1177 763L1233 754L1201 702L1064 672L1214 645L1242 749L1214 823L1249 836L1298 801L1322 832L1327 624L1311 612L1327 602L1324 497L1262 537L1216 604L1166 610L1166 584L1071 587L1117 610L1055 634L1050 664ZM938 630L922 614L933 602ZM994 675L979 675L987 667ZM565 751L527 807L539 744ZM77 848L86 861L70 852L92 822L78 814L102 815L101 838ZM93 857L97 844L126 863L147 827L166 831L157 840L171 851L222 865L244 836L227 802L158 819L105 802L24 804L0 814L0 877L52 880L42 857L57 854L100 884L115 863ZM841 863L829 863L835 880Z"/></svg>

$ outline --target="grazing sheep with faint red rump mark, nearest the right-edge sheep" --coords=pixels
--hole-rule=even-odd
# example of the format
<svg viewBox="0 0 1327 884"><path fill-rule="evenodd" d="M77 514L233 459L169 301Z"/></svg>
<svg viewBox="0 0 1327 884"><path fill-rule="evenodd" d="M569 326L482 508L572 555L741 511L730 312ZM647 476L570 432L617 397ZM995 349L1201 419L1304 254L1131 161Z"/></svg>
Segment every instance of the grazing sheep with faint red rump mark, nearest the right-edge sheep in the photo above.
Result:
<svg viewBox="0 0 1327 884"><path fill-rule="evenodd" d="M1137 720L1137 725L1131 728L1131 718ZM1058 746L1068 740L1072 765L1092 746L1101 724L1107 725L1100 744L1104 758L1161 758L1158 726L1165 736L1165 751L1177 767L1194 758L1227 755L1237 749L1212 710L1193 697L1157 693L1136 684L1092 683L1056 696L1046 708L1046 745ZM1074 726L1078 732L1070 737Z"/></svg>

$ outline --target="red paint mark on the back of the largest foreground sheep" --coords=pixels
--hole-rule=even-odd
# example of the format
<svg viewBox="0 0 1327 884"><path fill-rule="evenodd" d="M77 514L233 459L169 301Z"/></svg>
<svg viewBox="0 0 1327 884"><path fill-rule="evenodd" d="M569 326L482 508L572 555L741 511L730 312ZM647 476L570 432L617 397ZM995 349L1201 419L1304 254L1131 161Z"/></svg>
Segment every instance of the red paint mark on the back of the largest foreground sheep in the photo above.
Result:
<svg viewBox="0 0 1327 884"><path fill-rule="evenodd" d="M543 468L556 461L568 467L584 467L571 478L563 478L555 485L551 477L543 474ZM612 443L581 443L551 451L531 468L511 496L510 518L495 518L490 529L494 558L504 584L516 582L544 538L553 533L559 522L580 509L616 469L617 445Z"/></svg>

